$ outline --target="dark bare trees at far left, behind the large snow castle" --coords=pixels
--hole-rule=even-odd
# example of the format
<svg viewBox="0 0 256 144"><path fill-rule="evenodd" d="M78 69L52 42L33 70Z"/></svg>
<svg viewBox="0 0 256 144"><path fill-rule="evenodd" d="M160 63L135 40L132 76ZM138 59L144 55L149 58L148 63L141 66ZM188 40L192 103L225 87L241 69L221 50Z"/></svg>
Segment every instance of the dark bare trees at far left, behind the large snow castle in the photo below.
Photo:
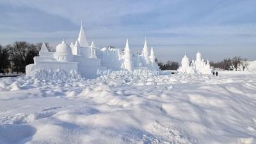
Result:
<svg viewBox="0 0 256 144"><path fill-rule="evenodd" d="M52 47L45 43L49 51ZM31 44L29 42L17 41L13 44L0 44L0 73L10 72L25 73L26 65L34 63L33 58L38 56L42 43Z"/></svg>

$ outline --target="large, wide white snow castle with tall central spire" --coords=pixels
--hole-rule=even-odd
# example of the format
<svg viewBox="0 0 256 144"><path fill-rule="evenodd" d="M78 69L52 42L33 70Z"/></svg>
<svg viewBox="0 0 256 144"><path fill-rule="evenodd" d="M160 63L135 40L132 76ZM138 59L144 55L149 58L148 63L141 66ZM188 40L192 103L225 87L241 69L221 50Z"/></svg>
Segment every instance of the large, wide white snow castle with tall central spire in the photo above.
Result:
<svg viewBox="0 0 256 144"><path fill-rule="evenodd" d="M33 70L57 70L65 72L77 70L82 77L95 78L99 76L99 71L104 70L154 70L160 72L155 61L154 50L151 48L148 56L147 40L145 40L142 54L138 56L130 51L128 38L124 51L106 47L99 49L94 42L88 44L83 25L79 31L75 44L71 42L67 45L65 40L56 46L55 52L48 51L43 43L39 56L34 57L34 63L26 66L26 74L31 75ZM135 62L134 62L135 61Z"/></svg>

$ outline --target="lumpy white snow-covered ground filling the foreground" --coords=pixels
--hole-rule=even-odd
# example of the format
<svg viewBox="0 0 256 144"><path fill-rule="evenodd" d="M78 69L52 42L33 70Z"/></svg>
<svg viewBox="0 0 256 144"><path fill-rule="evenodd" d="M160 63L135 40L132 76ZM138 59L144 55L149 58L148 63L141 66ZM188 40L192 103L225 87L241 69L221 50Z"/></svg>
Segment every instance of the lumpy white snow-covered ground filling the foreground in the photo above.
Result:
<svg viewBox="0 0 256 144"><path fill-rule="evenodd" d="M0 143L255 143L256 74L219 75L1 78Z"/></svg>

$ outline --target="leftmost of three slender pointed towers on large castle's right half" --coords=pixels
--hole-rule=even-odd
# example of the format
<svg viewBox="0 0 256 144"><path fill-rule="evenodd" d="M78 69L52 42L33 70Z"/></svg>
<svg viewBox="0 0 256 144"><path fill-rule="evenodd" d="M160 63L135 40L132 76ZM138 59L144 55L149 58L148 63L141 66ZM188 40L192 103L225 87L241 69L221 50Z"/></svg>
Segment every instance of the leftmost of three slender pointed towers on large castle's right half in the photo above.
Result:
<svg viewBox="0 0 256 144"><path fill-rule="evenodd" d="M131 52L129 48L128 38L126 39L126 44L124 48L124 68L129 72L133 70L133 62L131 60Z"/></svg>

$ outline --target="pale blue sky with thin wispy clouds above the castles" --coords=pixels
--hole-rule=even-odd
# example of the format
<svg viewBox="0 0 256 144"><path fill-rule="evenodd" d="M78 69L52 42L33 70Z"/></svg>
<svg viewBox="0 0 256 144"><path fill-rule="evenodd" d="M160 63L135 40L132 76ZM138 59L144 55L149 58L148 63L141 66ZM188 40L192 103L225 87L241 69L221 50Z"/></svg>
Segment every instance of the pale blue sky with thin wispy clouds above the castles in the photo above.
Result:
<svg viewBox="0 0 256 144"><path fill-rule="evenodd" d="M180 61L202 52L206 60L232 56L256 60L255 0L1 0L0 44L15 40L75 41L81 20L97 47L132 51L153 43L161 61Z"/></svg>

